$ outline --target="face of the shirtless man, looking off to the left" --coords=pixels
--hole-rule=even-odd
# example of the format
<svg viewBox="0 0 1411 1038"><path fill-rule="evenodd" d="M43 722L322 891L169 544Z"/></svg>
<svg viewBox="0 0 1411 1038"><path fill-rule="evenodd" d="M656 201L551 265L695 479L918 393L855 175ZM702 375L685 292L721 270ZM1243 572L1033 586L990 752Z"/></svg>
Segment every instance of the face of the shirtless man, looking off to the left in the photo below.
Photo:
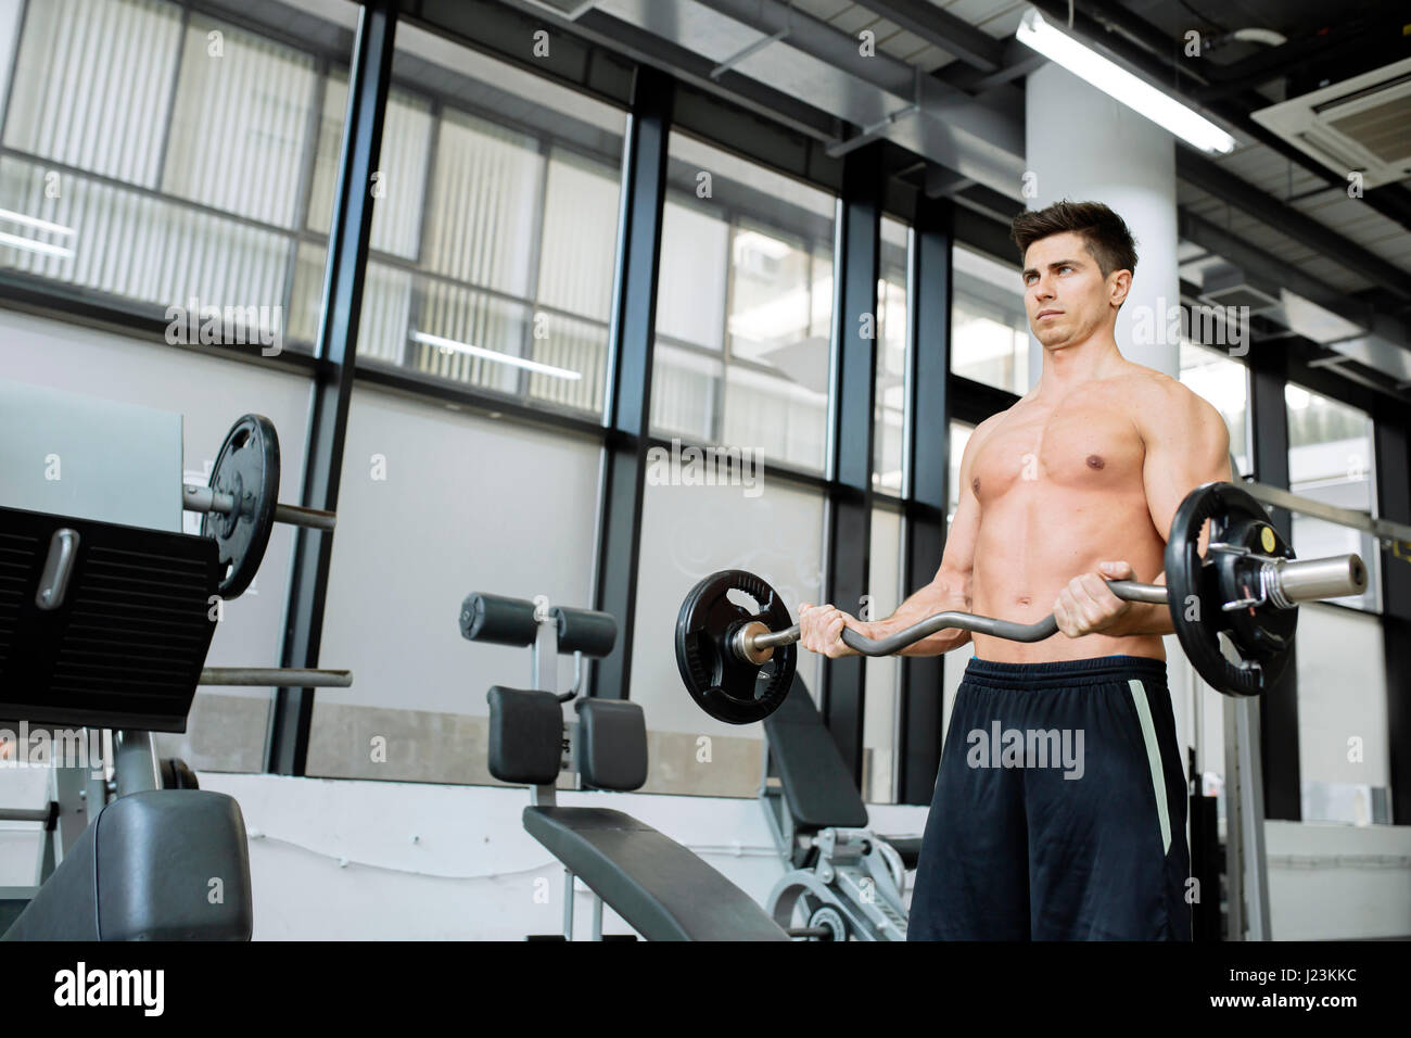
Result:
<svg viewBox="0 0 1411 1038"><path fill-rule="evenodd" d="M1024 253L1024 309L1044 349L1085 342L1116 319L1132 282L1129 271L1106 278L1081 234L1040 239Z"/></svg>

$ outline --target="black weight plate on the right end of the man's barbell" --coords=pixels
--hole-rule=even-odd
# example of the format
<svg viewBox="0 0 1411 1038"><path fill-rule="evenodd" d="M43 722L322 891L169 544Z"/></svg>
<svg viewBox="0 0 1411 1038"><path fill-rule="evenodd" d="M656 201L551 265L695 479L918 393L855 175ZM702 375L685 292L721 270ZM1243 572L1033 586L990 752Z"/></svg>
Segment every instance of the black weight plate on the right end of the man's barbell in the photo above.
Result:
<svg viewBox="0 0 1411 1038"><path fill-rule="evenodd" d="M1199 554L1201 527L1211 521L1205 558ZM1274 549L1266 551L1273 538ZM1230 696L1257 696L1278 681L1288 665L1297 609L1246 606L1225 610L1228 602L1257 597L1256 569L1242 549L1256 555L1294 558L1292 548L1268 523L1268 514L1247 490L1233 483L1205 483L1181 501L1165 542L1165 583L1171 623L1181 648L1211 688ZM1239 661L1221 650L1223 634Z"/></svg>

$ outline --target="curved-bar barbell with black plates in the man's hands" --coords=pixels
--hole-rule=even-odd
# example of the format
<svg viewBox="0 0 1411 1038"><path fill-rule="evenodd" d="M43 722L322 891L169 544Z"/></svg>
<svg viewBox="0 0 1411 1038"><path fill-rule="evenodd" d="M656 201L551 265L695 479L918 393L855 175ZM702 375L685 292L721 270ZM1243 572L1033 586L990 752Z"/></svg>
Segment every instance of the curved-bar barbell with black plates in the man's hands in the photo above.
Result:
<svg viewBox="0 0 1411 1038"><path fill-rule="evenodd" d="M1211 535L1202 556L1206 520ZM1367 586L1367 568L1357 555L1295 559L1259 501L1233 483L1205 483L1187 494L1171 520L1164 563L1164 586L1109 580L1108 587L1125 602L1167 604L1197 672L1216 691L1240 698L1263 693L1284 672L1300 602L1359 595ZM753 599L755 610L731 600L729 592ZM1053 637L1058 624L1053 616L1023 624L944 612L886 638L844 628L842 643L862 655L892 655L945 628L1031 643ZM799 636L773 587L753 573L727 569L697 583L682 603L676 664L706 713L749 724L789 695Z"/></svg>

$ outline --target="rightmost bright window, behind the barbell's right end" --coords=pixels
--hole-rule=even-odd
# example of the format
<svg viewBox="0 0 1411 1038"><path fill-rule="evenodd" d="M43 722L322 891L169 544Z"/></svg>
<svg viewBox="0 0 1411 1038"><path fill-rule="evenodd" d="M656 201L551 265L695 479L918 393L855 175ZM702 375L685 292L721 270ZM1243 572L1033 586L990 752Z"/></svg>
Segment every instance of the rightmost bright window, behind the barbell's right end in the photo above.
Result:
<svg viewBox="0 0 1411 1038"><path fill-rule="evenodd" d="M1284 387L1284 404L1290 490L1339 508L1374 513L1371 418L1292 383ZM1356 552L1367 563L1367 590L1336 602L1373 612L1379 607L1380 552L1371 534L1294 513L1294 551L1302 558Z"/></svg>

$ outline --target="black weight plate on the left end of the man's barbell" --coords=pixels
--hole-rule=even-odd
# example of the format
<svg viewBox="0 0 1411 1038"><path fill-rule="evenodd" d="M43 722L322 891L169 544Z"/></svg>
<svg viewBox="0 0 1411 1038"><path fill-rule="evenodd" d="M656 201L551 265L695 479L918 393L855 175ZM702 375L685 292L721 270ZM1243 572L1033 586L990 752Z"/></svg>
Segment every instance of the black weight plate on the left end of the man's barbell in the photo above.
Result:
<svg viewBox="0 0 1411 1038"><path fill-rule="evenodd" d="M732 590L753 599L758 612L732 602ZM794 644L776 647L759 665L731 651L731 636L752 620L772 631L793 626L775 589L742 569L724 569L697 583L676 617L676 665L686 691L706 713L728 724L763 720L779 709L793 685L799 660Z"/></svg>

